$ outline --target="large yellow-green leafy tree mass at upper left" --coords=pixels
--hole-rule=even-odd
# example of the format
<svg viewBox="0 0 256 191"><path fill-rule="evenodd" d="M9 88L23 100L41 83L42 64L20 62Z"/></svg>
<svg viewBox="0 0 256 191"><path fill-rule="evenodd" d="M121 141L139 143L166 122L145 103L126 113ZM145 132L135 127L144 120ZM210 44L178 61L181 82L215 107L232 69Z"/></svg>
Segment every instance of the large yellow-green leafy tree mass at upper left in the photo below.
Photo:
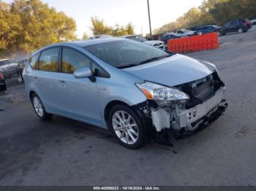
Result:
<svg viewBox="0 0 256 191"><path fill-rule="evenodd" d="M31 52L48 44L76 39L75 21L39 0L0 4L0 49Z"/></svg>

